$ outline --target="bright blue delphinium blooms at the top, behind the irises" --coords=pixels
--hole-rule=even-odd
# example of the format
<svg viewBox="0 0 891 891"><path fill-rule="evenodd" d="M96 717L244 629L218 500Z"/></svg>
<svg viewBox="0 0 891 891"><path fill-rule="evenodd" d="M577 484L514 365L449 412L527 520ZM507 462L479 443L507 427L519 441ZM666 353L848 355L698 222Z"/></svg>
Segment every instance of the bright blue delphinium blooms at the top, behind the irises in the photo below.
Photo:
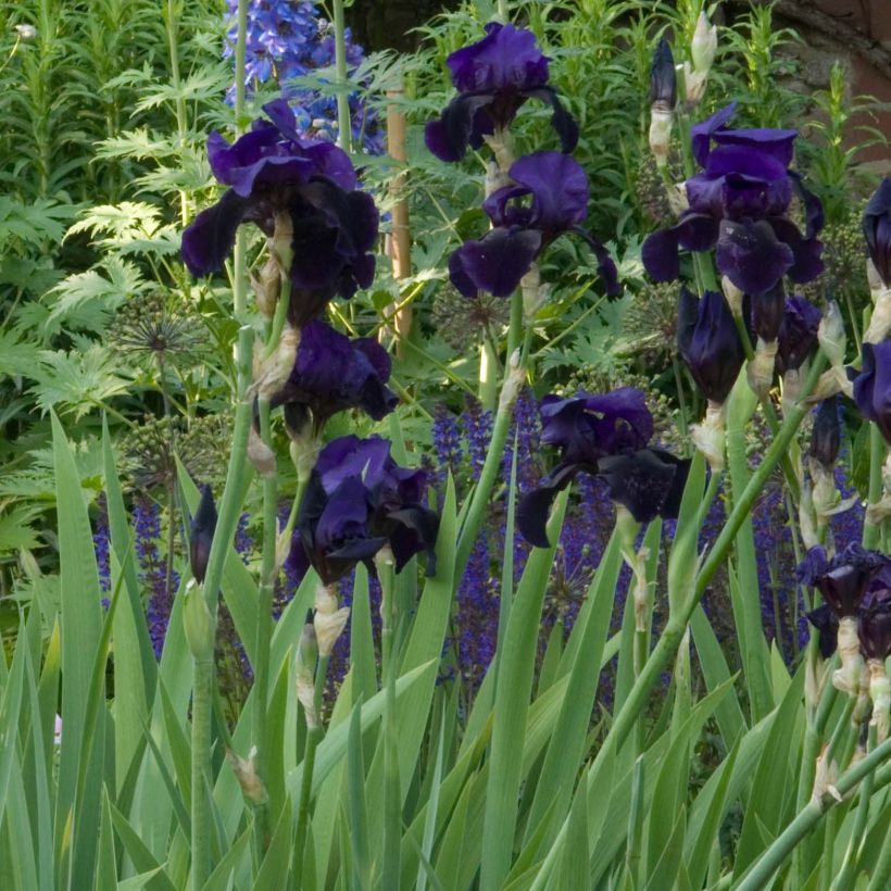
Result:
<svg viewBox="0 0 891 891"><path fill-rule="evenodd" d="M228 0L235 16L237 0ZM235 52L237 27L227 34L224 54ZM293 80L334 65L335 36L330 23L319 16L318 4L301 0L251 0L248 5L248 32L244 80L248 89L254 83L275 80L294 110L298 130L304 138L337 138L337 100L313 89L298 87ZM353 42L347 28L348 73L352 75L364 61L361 46ZM229 91L231 101L235 90ZM352 138L371 154L384 151L380 117L359 92L349 96Z"/></svg>

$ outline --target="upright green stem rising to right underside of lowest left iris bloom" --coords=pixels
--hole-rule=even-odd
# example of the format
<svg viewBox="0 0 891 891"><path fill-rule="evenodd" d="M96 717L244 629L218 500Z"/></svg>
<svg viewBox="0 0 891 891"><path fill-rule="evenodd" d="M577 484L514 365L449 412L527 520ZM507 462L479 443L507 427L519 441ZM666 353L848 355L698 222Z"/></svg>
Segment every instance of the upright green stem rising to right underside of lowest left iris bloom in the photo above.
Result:
<svg viewBox="0 0 891 891"><path fill-rule="evenodd" d="M397 608L392 555L379 555L380 649L384 672L384 864L381 887L399 891L399 848L402 840L402 793L399 779L399 739L396 724Z"/></svg>

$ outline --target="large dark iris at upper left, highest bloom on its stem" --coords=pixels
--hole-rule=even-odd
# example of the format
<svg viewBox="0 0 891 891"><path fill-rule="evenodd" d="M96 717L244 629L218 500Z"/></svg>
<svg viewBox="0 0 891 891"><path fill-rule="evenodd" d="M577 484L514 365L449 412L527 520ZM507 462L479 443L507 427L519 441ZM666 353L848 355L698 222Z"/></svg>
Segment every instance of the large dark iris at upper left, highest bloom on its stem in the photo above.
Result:
<svg viewBox="0 0 891 891"><path fill-rule="evenodd" d="M192 275L221 272L241 223L255 223L272 236L276 216L288 213L293 230L289 316L300 326L335 294L350 298L372 284L368 251L377 239L378 213L371 196L356 190L346 152L332 142L301 139L286 100L263 110L269 121L254 121L233 145L211 134L211 170L229 189L183 233L183 260Z"/></svg>

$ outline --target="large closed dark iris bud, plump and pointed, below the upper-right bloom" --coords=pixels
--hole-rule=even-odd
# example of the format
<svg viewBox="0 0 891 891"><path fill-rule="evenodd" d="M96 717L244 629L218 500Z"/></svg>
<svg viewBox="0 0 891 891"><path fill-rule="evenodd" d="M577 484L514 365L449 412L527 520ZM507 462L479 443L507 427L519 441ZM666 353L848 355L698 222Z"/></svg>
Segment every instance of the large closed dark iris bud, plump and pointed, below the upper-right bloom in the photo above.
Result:
<svg viewBox="0 0 891 891"><path fill-rule="evenodd" d="M724 403L742 368L745 352L727 301L716 291L702 299L687 288L678 304L678 351L711 402Z"/></svg>

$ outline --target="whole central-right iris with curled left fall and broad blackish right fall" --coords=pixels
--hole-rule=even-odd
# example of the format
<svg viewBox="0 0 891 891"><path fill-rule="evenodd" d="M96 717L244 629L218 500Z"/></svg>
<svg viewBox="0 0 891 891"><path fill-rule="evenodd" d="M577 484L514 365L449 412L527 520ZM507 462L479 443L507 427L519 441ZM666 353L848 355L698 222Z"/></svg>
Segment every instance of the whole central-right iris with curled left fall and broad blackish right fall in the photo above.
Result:
<svg viewBox="0 0 891 891"><path fill-rule="evenodd" d="M643 392L633 387L602 396L545 397L541 402L541 441L556 446L561 461L517 507L517 526L527 541L537 548L548 547L545 526L551 504L579 473L603 476L612 498L640 522L677 512L676 492L683 489L689 462L645 448L652 435L653 416Z"/></svg>

